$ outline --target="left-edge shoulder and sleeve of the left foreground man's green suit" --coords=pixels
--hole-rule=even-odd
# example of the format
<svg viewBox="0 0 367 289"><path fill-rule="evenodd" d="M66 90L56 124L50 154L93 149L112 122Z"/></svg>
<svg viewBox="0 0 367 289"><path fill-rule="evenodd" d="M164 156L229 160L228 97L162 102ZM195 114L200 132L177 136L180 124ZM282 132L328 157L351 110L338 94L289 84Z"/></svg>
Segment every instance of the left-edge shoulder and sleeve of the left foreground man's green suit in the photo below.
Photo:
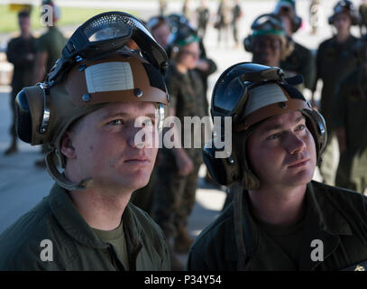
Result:
<svg viewBox="0 0 367 289"><path fill-rule="evenodd" d="M48 197L17 219L0 235L0 270L47 270L42 262L41 241L51 238L53 219Z"/></svg>

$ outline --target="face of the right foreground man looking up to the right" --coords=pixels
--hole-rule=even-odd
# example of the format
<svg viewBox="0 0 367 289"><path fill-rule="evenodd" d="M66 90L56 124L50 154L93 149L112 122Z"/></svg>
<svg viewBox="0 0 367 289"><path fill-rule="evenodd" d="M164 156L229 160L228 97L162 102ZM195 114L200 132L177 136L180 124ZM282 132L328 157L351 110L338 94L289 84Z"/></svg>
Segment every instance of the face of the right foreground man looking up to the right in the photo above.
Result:
<svg viewBox="0 0 367 289"><path fill-rule="evenodd" d="M292 111L265 120L247 140L247 153L261 187L296 187L312 180L316 146L306 119Z"/></svg>

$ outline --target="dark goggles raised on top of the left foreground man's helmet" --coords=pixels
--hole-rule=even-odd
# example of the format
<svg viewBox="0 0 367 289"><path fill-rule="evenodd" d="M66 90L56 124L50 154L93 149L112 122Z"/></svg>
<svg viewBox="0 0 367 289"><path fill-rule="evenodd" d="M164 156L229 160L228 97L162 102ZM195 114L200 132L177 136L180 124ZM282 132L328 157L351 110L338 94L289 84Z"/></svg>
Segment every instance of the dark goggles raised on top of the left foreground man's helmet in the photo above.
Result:
<svg viewBox="0 0 367 289"><path fill-rule="evenodd" d="M98 60L135 42L142 57L164 74L168 68L166 51L133 15L124 12L98 14L82 24L62 50L62 57L49 73L52 84L81 59Z"/></svg>

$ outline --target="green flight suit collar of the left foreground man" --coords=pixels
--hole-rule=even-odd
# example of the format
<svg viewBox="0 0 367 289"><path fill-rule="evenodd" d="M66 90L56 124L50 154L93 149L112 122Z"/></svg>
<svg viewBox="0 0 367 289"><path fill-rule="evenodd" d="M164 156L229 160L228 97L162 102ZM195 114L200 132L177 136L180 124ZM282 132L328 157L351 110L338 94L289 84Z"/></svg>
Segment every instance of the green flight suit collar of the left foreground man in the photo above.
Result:
<svg viewBox="0 0 367 289"><path fill-rule="evenodd" d="M60 223L60 226L69 234L71 238L79 243L99 249L106 249L108 245L97 238L96 233L89 227L86 220L79 214L77 208L69 197L69 193L55 183L49 196L50 210ZM126 239L126 246L129 253L130 268L133 270L133 260L138 255L142 244L140 236L142 226L133 216L132 210L128 204L124 210L123 222Z"/></svg>

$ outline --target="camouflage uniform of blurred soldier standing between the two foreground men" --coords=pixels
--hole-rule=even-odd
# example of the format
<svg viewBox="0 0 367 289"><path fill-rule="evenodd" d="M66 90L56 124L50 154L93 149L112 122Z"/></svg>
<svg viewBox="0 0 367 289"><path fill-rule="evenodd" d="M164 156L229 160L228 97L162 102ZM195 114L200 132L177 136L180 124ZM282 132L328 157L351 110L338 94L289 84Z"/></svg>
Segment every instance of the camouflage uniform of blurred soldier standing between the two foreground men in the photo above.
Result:
<svg viewBox="0 0 367 289"><path fill-rule="evenodd" d="M166 84L170 94L170 107L176 110L181 124L184 117L204 117L203 85L195 70L182 74L170 64L166 74ZM182 126L182 133L184 132ZM191 139L194 134L191 130ZM203 142L201 143L204 146ZM197 172L202 161L201 148L185 148L194 163L193 172L179 176L175 157L170 149L161 149L161 164L158 166L158 180L155 191L153 218L161 226L168 238L174 237L176 228L186 227L188 216L195 204Z"/></svg>

